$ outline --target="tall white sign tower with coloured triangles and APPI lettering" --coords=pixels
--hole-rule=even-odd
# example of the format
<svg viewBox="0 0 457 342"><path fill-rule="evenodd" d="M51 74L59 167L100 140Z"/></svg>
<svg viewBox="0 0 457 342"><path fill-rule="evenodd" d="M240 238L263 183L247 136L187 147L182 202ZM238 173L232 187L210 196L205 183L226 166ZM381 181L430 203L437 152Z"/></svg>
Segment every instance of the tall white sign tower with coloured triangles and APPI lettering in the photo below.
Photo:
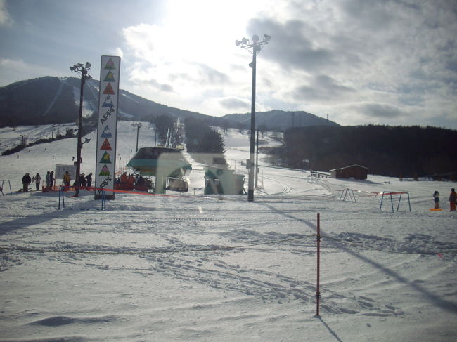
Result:
<svg viewBox="0 0 457 342"><path fill-rule="evenodd" d="M105 190L105 199L115 197L120 63L119 56L101 56L95 185ZM96 190L95 199L101 198L102 191Z"/></svg>

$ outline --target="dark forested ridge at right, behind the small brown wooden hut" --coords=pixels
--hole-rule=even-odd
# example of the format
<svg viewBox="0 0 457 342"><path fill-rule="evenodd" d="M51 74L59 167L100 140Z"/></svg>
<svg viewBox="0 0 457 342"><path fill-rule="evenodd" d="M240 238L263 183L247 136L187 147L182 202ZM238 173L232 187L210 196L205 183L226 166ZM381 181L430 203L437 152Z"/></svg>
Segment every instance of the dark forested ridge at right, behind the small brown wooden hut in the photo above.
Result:
<svg viewBox="0 0 457 342"><path fill-rule="evenodd" d="M457 172L457 131L420 126L314 126L288 129L288 166L329 171L360 164L369 173L415 177Z"/></svg>

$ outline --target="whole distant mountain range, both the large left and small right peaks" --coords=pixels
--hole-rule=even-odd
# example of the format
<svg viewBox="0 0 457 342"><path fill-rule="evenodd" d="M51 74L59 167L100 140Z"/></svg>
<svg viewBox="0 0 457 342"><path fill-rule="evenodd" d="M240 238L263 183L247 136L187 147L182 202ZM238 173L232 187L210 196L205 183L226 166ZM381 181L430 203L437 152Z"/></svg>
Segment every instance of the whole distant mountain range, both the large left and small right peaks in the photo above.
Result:
<svg viewBox="0 0 457 342"><path fill-rule="evenodd" d="M75 122L79 113L80 79L76 77L40 77L18 81L0 88L0 127ZM98 112L99 81L89 79L84 86L83 117L91 121ZM161 105L120 90L119 119L150 121L152 117L170 115L184 121L194 117L210 126L250 127L250 113L224 117L180 110ZM256 113L256 126L283 131L292 126L337 125L307 112L271 110Z"/></svg>

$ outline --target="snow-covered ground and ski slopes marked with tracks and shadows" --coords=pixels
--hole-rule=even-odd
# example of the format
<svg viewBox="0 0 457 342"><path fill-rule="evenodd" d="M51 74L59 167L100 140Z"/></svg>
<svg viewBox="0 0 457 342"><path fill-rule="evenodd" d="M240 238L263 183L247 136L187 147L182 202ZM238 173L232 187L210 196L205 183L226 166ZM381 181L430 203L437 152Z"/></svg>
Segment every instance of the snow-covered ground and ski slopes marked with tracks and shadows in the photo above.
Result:
<svg viewBox="0 0 457 342"><path fill-rule="evenodd" d="M12 134L0 130L1 148ZM84 173L96 162L88 138ZM139 147L153 141L143 125ZM231 167L245 171L247 135L230 130L225 142ZM120 121L118 170L135 147L136 128ZM75 154L72 138L0 157L13 187L0 196L1 341L456 341L456 183L261 167L247 202L202 195L204 171L191 161L187 194L117 194L105 211L85 191L61 210L57 193L14 192L25 172L44 175ZM347 188L356 202L340 200ZM443 211L428 210L435 190ZM405 195L399 211L390 198L380 211L382 191L408 192L411 212Z"/></svg>

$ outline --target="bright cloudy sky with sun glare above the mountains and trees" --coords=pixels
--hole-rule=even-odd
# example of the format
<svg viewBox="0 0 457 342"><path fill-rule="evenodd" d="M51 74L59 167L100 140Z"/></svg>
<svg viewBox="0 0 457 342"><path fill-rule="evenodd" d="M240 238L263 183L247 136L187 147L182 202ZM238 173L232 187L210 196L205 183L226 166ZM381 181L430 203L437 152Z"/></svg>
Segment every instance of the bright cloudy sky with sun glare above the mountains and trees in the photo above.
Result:
<svg viewBox="0 0 457 342"><path fill-rule="evenodd" d="M0 86L120 55L120 88L183 110L304 110L457 129L457 1L0 0ZM146 114L146 113L145 113Z"/></svg>

